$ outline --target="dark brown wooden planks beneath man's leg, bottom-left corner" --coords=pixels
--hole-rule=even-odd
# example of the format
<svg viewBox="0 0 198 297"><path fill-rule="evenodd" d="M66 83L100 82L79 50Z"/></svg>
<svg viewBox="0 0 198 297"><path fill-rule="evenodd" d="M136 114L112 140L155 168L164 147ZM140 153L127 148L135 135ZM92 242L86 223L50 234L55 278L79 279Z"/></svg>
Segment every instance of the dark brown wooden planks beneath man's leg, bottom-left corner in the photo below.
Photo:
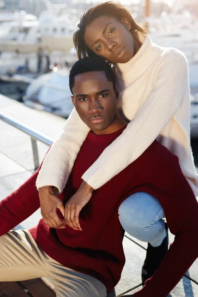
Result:
<svg viewBox="0 0 198 297"><path fill-rule="evenodd" d="M46 278L1 282L0 297L55 297L54 286Z"/></svg>

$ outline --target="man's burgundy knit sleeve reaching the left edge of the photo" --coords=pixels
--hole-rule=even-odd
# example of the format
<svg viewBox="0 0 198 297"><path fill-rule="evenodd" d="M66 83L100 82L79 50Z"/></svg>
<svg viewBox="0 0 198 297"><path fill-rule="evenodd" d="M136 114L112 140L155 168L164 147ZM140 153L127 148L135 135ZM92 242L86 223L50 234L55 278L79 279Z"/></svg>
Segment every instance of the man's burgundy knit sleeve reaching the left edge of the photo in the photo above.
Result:
<svg viewBox="0 0 198 297"><path fill-rule="evenodd" d="M0 236L27 219L40 207L35 186L40 168L16 191L0 201Z"/></svg>

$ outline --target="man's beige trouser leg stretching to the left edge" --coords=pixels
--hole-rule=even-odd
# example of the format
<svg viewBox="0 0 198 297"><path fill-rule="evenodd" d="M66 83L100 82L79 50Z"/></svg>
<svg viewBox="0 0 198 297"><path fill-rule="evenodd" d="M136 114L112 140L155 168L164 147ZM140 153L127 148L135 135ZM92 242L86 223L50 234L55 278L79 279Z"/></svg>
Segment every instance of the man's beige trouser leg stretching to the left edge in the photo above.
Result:
<svg viewBox="0 0 198 297"><path fill-rule="evenodd" d="M45 277L46 255L29 231L11 230L0 236L0 282Z"/></svg>

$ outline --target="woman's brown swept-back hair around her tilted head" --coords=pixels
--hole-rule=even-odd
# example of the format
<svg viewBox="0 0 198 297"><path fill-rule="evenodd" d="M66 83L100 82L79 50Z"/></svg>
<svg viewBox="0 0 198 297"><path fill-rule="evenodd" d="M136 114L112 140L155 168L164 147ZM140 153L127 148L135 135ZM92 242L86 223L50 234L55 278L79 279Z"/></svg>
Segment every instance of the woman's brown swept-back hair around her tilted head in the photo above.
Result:
<svg viewBox="0 0 198 297"><path fill-rule="evenodd" d="M84 35L86 28L98 17L110 16L117 19L119 22L122 18L126 18L131 24L131 34L138 45L141 46L137 32L147 33L146 29L141 24L134 20L130 12L120 3L107 1L91 7L83 13L77 24L77 30L73 36L73 42L77 51L78 58L81 59L85 56L97 56L97 54L89 49L85 43Z"/></svg>

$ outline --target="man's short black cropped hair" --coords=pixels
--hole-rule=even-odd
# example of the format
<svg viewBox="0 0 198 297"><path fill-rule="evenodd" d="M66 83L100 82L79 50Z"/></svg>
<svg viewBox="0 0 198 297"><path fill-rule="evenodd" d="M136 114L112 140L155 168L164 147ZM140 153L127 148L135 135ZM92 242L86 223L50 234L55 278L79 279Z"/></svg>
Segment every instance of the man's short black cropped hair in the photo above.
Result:
<svg viewBox="0 0 198 297"><path fill-rule="evenodd" d="M115 76L111 66L100 57L84 57L78 60L70 70L69 88L72 94L72 88L74 87L74 77L78 74L91 71L104 71L107 81L113 83L113 90L115 90Z"/></svg>

